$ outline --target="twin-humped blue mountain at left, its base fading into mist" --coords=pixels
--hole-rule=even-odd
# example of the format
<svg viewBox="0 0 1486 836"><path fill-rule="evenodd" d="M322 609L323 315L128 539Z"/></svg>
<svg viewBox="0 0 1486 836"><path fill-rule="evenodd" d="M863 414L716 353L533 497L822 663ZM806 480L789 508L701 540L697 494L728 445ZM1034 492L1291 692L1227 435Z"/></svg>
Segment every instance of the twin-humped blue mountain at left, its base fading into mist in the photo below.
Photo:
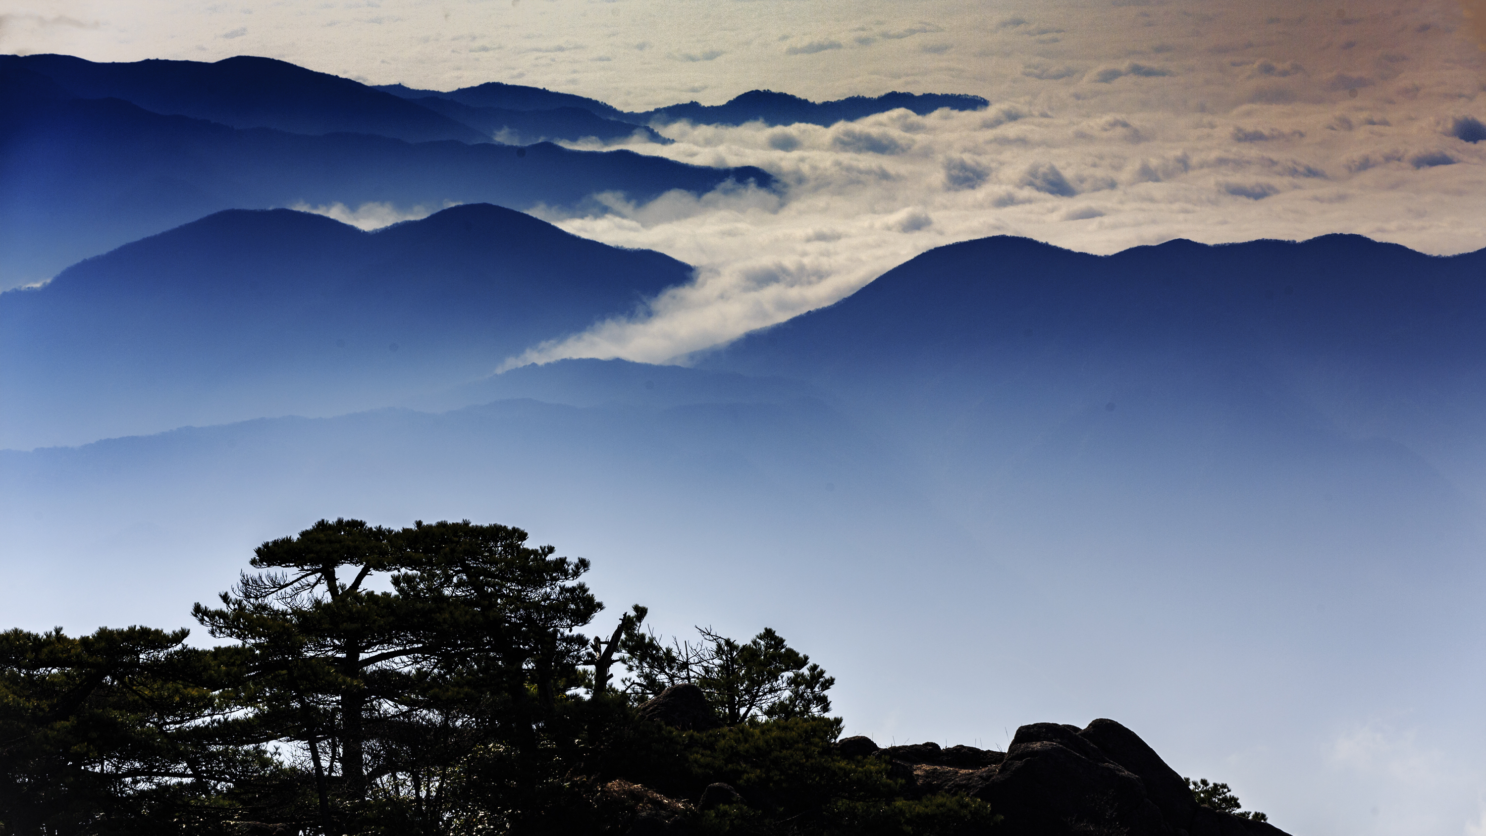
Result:
<svg viewBox="0 0 1486 836"><path fill-rule="evenodd" d="M0 445L395 404L690 275L490 205L373 233L218 212L0 294Z"/></svg>

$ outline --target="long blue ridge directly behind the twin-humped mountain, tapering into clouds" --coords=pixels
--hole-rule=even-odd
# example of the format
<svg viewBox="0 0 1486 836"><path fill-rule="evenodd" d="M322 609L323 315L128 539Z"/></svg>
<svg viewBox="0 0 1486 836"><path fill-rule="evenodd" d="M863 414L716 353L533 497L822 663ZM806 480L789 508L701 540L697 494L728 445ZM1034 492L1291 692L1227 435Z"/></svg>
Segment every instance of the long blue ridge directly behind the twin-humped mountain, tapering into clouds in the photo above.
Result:
<svg viewBox="0 0 1486 836"><path fill-rule="evenodd" d="M239 131L119 99L6 105L0 181L0 287L45 281L79 258L229 208L493 202L525 209L590 205L597 192L648 200L728 181L773 184L755 168L623 150Z"/></svg>

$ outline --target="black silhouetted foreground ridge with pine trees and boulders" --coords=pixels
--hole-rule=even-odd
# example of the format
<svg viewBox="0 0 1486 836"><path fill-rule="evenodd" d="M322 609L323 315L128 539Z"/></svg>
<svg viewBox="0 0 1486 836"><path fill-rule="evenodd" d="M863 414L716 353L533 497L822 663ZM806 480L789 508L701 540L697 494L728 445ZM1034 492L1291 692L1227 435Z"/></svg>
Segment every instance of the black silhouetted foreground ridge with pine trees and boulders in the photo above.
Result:
<svg viewBox="0 0 1486 836"><path fill-rule="evenodd" d="M526 543L321 520L192 607L229 644L0 631L0 833L1284 836L1113 720L841 739L835 677L773 628L594 624L590 563Z"/></svg>

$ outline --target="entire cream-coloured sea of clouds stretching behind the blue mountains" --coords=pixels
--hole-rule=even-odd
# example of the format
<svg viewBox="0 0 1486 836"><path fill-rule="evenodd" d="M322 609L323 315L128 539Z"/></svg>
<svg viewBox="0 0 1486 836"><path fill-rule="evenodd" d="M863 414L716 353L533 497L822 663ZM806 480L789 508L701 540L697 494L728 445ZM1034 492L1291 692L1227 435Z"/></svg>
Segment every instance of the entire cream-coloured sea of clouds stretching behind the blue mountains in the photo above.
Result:
<svg viewBox="0 0 1486 836"><path fill-rule="evenodd" d="M695 264L698 282L640 321L511 362L667 361L985 235L1091 252L1330 232L1435 254L1486 246L1486 12L1458 0L6 0L0 9L0 49L94 61L266 55L370 83L516 82L633 110L718 104L756 88L991 101L981 113L899 111L835 128L667 128L675 146L636 150L759 165L786 189L646 206L614 196L617 211L603 217L544 214ZM374 227L441 206L300 208Z"/></svg>

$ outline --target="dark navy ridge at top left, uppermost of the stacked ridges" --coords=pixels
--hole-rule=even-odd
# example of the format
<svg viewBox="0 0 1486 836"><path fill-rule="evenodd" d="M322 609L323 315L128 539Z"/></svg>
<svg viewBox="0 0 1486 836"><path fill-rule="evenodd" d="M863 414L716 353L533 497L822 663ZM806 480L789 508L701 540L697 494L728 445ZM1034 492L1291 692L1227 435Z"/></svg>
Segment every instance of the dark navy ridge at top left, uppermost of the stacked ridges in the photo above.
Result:
<svg viewBox="0 0 1486 836"><path fill-rule="evenodd" d="M73 98L119 98L153 113L230 128L377 134L409 143L489 140L481 131L416 102L272 58L101 64L71 55L3 55L0 68L4 67L46 76Z"/></svg>

